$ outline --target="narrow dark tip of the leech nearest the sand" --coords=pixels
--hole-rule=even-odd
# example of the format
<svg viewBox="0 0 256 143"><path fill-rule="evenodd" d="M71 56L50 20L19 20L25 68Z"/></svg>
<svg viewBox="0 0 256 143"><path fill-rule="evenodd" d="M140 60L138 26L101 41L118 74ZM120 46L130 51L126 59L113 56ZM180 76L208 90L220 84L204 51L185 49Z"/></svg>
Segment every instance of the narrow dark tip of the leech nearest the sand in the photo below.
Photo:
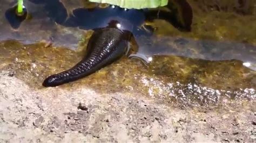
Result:
<svg viewBox="0 0 256 143"><path fill-rule="evenodd" d="M63 84L63 81L64 81L63 78L60 78L57 75L51 75L44 80L43 86L44 87L56 87L60 84Z"/></svg>

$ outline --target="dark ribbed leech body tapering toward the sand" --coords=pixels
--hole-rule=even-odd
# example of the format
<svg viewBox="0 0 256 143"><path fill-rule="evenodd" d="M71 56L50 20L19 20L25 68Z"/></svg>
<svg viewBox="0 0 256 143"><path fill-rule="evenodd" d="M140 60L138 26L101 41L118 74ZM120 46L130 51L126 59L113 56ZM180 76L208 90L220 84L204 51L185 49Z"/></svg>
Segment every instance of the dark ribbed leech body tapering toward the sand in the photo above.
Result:
<svg viewBox="0 0 256 143"><path fill-rule="evenodd" d="M74 67L47 77L43 86L56 87L95 73L120 58L126 50L127 40L122 30L113 27L99 28L89 40L85 58Z"/></svg>

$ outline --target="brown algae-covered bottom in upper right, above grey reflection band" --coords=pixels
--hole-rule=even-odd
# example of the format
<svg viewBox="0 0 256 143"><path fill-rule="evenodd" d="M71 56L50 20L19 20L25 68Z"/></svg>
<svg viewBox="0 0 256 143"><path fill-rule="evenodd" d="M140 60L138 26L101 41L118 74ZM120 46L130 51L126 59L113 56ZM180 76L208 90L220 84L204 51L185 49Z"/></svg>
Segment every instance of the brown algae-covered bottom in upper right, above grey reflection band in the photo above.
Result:
<svg viewBox="0 0 256 143"><path fill-rule="evenodd" d="M159 35L245 42L256 45L255 1L193 1L191 32L180 32L164 20L155 20Z"/></svg>

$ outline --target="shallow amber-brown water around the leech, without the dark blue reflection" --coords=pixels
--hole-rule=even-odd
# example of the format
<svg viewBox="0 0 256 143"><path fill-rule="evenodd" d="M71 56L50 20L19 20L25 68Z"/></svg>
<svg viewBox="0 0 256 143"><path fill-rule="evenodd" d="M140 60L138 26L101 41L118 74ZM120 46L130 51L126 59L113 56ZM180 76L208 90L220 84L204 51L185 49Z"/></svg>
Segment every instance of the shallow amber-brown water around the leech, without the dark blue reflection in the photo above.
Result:
<svg viewBox="0 0 256 143"><path fill-rule="evenodd" d="M17 30L11 28L3 14L0 16L4 19L0 22L0 67L10 70L10 76L40 89L46 76L68 69L82 59L92 31L59 25L45 13L43 4L25 2L31 18ZM76 1L62 2L69 9L65 15L72 15L72 9L81 7ZM241 14L230 9L208 10L207 6L205 10L201 7L203 1L188 2L194 12L191 32L178 31L171 24L156 20L151 23L158 26L152 36L135 38L139 46L137 55L144 62L124 57L95 74L60 87L130 92L133 96L138 93L180 106L253 102L255 3L253 10ZM0 5L0 12L12 5L6 1Z"/></svg>

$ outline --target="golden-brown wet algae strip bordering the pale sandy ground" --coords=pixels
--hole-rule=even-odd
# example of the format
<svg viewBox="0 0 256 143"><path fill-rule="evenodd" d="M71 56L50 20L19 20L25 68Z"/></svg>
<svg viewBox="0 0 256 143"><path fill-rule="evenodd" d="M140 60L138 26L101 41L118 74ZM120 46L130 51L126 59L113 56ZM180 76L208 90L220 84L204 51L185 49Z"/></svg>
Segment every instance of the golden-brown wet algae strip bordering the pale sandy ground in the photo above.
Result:
<svg viewBox="0 0 256 143"><path fill-rule="evenodd" d="M1 69L10 70L12 76L39 89L43 88L46 76L70 68L83 57L81 51L45 47L45 44L5 41L0 47ZM60 88L87 87L100 93L126 92L133 96L137 93L179 106L215 106L224 98L254 101L256 84L253 79L256 79L256 72L237 60L153 56L146 66L138 59L124 56L95 74Z"/></svg>

